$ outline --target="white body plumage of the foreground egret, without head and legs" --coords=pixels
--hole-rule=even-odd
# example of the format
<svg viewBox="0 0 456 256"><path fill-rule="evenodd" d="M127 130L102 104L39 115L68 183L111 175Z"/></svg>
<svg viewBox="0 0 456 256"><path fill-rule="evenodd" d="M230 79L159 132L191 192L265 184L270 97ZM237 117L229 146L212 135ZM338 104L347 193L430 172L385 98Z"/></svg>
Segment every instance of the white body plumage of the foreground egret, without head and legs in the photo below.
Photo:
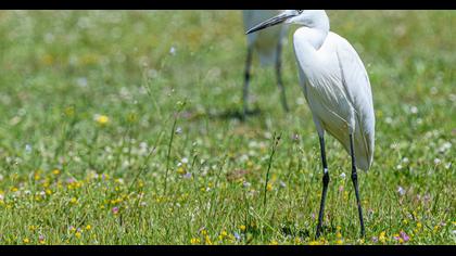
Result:
<svg viewBox="0 0 456 256"><path fill-rule="evenodd" d="M328 131L350 154L349 132L354 132L356 166L367 170L373 156L375 117L366 69L344 38L328 33L315 49L306 39L313 33L299 28L293 41L301 85L318 133Z"/></svg>

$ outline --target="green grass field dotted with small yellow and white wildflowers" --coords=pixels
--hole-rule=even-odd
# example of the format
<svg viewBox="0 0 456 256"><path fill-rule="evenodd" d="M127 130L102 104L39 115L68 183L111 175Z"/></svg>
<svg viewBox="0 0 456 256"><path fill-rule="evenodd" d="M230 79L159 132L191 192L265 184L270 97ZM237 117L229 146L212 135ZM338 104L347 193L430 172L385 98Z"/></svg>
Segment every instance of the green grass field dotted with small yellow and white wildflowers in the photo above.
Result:
<svg viewBox="0 0 456 256"><path fill-rule="evenodd" d="M372 85L364 239L327 137L314 240L322 171L292 31L291 112L254 65L261 114L242 123L240 11L1 11L0 244L456 244L456 12L328 15Z"/></svg>

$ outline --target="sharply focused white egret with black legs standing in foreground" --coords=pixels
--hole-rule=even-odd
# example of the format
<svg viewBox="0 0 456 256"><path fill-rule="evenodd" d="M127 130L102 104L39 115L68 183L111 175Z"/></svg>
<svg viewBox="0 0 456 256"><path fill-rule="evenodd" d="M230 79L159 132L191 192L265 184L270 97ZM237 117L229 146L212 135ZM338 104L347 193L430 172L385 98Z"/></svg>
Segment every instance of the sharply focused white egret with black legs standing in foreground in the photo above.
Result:
<svg viewBox="0 0 456 256"><path fill-rule="evenodd" d="M329 183L325 131L339 140L352 157L360 232L365 234L356 168L368 170L373 157L375 115L366 68L355 49L329 31L322 10L287 10L251 28L246 34L281 23L297 24L293 36L301 86L318 131L324 168L322 193L316 236L321 232Z"/></svg>

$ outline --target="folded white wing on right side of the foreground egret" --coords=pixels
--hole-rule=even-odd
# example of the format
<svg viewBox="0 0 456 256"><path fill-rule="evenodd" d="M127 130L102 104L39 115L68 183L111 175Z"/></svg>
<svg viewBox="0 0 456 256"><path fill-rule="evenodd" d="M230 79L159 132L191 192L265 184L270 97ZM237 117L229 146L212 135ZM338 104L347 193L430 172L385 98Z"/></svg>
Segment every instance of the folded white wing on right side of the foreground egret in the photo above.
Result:
<svg viewBox="0 0 456 256"><path fill-rule="evenodd" d="M362 135L370 165L373 154L375 114L369 77L355 49L342 37L337 43L337 54L342 84L356 112L359 125L356 128Z"/></svg>

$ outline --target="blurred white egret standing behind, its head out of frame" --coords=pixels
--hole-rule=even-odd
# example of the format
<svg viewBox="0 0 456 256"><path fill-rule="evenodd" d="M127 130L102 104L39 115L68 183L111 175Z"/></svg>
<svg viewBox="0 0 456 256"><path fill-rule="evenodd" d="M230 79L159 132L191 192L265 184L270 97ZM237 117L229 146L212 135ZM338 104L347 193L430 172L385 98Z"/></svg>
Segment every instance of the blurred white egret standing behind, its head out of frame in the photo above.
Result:
<svg viewBox="0 0 456 256"><path fill-rule="evenodd" d="M244 10L243 22L245 30L280 13L279 10ZM287 26L277 26L257 34L248 35L248 54L245 60L244 88L243 88L243 114L249 113L249 86L251 79L252 56L255 51L259 56L262 66L275 65L277 86L281 93L283 108L288 112L287 97L281 77L281 52L287 38Z"/></svg>

